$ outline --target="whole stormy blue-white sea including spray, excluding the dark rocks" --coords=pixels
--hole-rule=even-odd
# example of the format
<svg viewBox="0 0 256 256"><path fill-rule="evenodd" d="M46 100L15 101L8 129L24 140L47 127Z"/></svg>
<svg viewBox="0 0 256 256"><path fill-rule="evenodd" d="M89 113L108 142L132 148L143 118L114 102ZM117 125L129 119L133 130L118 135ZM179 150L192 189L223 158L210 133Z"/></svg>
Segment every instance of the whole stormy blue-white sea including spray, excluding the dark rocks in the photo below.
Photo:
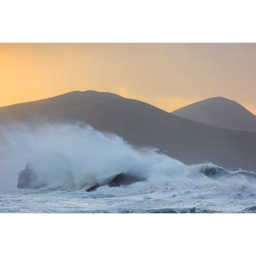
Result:
<svg viewBox="0 0 256 256"><path fill-rule="evenodd" d="M17 188L27 164L37 189ZM140 179L109 186L121 173ZM0 191L0 213L256 213L255 172L186 166L81 123L0 127Z"/></svg>

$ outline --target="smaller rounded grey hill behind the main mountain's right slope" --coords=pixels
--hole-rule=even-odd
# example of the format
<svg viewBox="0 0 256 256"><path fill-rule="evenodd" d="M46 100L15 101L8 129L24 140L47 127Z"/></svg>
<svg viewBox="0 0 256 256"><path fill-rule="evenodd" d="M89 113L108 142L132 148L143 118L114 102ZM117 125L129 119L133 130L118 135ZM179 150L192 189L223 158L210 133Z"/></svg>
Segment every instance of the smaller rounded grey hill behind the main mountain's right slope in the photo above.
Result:
<svg viewBox="0 0 256 256"><path fill-rule="evenodd" d="M222 128L256 132L256 116L234 100L223 97L202 100L171 114Z"/></svg>

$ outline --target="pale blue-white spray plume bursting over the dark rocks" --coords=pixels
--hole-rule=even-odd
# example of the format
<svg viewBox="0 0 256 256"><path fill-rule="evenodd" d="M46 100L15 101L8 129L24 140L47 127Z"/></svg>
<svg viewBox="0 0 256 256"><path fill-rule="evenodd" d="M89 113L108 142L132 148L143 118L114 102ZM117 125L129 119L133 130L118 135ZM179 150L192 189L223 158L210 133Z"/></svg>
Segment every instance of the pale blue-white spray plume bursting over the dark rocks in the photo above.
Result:
<svg viewBox="0 0 256 256"><path fill-rule="evenodd" d="M122 138L82 122L0 126L0 190L17 189L18 173L29 165L37 182L74 189L103 184L120 173L184 177L185 165L165 154L140 152Z"/></svg>

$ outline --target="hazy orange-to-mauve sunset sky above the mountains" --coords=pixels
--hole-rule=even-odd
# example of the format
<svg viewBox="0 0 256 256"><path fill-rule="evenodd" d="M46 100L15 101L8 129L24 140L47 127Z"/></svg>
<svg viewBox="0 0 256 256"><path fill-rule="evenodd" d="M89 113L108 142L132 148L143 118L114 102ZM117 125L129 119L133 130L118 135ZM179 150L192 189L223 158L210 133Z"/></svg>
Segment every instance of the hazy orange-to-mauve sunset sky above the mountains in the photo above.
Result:
<svg viewBox="0 0 256 256"><path fill-rule="evenodd" d="M255 43L0 43L0 106L112 92L171 112L222 96L256 115Z"/></svg>

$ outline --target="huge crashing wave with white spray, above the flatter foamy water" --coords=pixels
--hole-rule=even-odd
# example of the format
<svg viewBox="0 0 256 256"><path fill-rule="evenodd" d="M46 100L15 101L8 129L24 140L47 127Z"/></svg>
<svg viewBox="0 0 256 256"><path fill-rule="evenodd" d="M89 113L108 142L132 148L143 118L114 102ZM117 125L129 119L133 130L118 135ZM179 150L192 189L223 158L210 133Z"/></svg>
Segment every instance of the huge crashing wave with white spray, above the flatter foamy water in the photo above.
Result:
<svg viewBox="0 0 256 256"><path fill-rule="evenodd" d="M17 178L20 188L86 190L114 186L120 174L129 175L130 183L146 182L140 189L165 189L172 182L221 182L256 192L255 172L227 171L214 164L186 166L165 154L135 150L122 138L80 122L0 127L0 190L16 188Z"/></svg>

